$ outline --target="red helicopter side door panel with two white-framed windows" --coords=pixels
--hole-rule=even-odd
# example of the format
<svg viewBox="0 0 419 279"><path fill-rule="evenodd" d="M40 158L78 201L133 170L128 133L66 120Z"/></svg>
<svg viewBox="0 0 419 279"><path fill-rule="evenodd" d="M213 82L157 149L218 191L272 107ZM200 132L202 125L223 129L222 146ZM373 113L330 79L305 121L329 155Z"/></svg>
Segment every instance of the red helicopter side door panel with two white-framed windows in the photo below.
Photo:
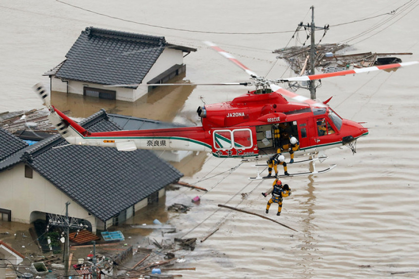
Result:
<svg viewBox="0 0 419 279"><path fill-rule="evenodd" d="M258 154L255 127L211 129L212 155L249 157Z"/></svg>

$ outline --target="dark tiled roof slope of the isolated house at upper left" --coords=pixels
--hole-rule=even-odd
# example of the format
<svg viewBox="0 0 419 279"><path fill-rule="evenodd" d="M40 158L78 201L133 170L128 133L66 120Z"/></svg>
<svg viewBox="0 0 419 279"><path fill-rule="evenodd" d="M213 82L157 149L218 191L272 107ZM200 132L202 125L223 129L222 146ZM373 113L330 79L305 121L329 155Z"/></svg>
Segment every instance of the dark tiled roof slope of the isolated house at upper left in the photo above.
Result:
<svg viewBox="0 0 419 279"><path fill-rule="evenodd" d="M138 84L163 52L164 37L86 27L56 76L97 84Z"/></svg>

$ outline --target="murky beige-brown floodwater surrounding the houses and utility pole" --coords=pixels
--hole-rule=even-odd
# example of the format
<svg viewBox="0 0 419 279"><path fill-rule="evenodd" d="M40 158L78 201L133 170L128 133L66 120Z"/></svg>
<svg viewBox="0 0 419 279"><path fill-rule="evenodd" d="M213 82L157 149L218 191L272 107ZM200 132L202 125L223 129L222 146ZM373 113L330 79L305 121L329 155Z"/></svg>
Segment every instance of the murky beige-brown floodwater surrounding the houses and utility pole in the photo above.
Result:
<svg viewBox="0 0 419 279"><path fill-rule="evenodd" d="M359 35L349 42L352 53L409 52L413 55L400 58L419 60L416 0L375 0L362 5L341 0L66 2L83 9L53 0L0 1L0 112L40 108L32 85L49 84L41 74L64 59L87 26L165 36L170 43L197 48L184 58L186 75L179 77L193 83L248 81L246 73L210 50L204 40L216 42L260 75L289 76L287 64L276 62L272 51L287 45L298 23L311 21L312 4L316 24L331 26L322 43L345 42ZM396 10L393 16L339 25L392 10ZM142 22L167 28L138 24ZM277 31L290 32L273 33ZM220 32L230 34L216 34ZM302 43L305 36L305 32L299 36ZM316 42L322 36L323 31L318 31ZM295 44L292 39L288 46ZM195 250L179 252L185 256L185 266L196 270L178 273L184 278L418 278L418 75L419 67L409 66L390 73L322 80L318 98L333 96L329 105L343 118L364 122L369 135L358 140L355 154L345 147L329 150L329 158L316 168L337 164L332 171L284 180L292 195L284 199L280 217L275 215L276 204L267 216L296 231L218 206L265 215L268 198L261 193L271 181L248 180L257 170L251 163L202 153L177 163L185 173L183 181L209 190L168 192L166 205L194 205L187 214L161 216L177 228L176 237L198 238ZM248 90L161 88L134 103L54 93L52 102L74 117L104 108L194 126L200 121L198 106L228 101ZM309 96L304 89L298 93ZM299 172L308 167L290 169ZM196 196L201 198L199 205L191 203ZM155 237L170 236L158 232Z"/></svg>

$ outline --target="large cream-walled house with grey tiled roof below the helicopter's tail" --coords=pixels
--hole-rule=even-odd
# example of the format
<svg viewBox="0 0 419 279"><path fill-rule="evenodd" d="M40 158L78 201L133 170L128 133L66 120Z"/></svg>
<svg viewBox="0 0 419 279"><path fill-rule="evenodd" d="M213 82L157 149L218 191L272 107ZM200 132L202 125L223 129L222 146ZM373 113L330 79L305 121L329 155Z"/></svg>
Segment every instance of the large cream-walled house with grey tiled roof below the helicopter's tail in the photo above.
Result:
<svg viewBox="0 0 419 279"><path fill-rule="evenodd" d="M80 125L91 131L120 130L99 111ZM0 216L32 223L63 214L106 230L158 202L183 174L149 150L68 146L53 135L32 146L0 128Z"/></svg>

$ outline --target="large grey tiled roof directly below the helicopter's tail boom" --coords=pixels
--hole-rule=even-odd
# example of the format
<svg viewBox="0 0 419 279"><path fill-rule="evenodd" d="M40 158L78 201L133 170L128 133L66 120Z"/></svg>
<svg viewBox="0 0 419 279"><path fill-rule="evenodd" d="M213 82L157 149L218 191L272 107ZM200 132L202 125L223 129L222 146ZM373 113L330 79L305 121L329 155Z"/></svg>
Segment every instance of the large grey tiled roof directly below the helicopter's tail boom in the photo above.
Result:
<svg viewBox="0 0 419 279"><path fill-rule="evenodd" d="M104 111L80 124L93 132L120 130ZM149 150L121 152L114 148L66 144L59 134L51 136L26 148L19 156L20 162L26 162L102 221L183 176ZM0 164L0 170L5 167Z"/></svg>

